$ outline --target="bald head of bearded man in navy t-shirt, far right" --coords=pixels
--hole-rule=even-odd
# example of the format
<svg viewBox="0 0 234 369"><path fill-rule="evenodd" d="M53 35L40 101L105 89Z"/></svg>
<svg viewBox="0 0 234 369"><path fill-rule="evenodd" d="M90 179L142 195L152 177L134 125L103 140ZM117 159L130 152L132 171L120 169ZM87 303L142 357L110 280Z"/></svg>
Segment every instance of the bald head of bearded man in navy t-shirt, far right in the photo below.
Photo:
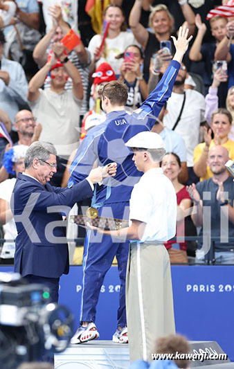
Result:
<svg viewBox="0 0 234 369"><path fill-rule="evenodd" d="M228 150L222 145L212 147L208 152L208 165L213 174L226 171L225 163L229 160Z"/></svg>

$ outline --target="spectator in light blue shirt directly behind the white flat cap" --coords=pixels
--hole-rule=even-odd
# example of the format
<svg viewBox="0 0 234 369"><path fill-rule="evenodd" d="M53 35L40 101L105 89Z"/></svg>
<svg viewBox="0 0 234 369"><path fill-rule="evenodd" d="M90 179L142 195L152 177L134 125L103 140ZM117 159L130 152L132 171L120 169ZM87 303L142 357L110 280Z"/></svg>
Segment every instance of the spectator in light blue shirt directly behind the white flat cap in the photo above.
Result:
<svg viewBox="0 0 234 369"><path fill-rule="evenodd" d="M172 131L168 127L164 127L163 118L168 114L167 106L162 107L158 118L156 118L155 124L151 131L160 134L163 138L165 145L165 152L174 152L179 156L181 163L181 169L179 170L179 181L181 183L186 183L188 181L188 168L186 162L186 145L183 138L177 134L177 132Z"/></svg>

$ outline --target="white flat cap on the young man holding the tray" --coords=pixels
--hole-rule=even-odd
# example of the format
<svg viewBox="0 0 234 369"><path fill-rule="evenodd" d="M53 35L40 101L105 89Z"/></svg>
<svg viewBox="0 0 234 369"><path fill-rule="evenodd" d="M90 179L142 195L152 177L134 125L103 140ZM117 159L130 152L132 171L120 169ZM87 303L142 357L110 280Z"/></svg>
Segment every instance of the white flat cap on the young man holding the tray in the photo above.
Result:
<svg viewBox="0 0 234 369"><path fill-rule="evenodd" d="M154 132L140 132L125 143L128 147L139 147L142 149L164 149L163 138Z"/></svg>

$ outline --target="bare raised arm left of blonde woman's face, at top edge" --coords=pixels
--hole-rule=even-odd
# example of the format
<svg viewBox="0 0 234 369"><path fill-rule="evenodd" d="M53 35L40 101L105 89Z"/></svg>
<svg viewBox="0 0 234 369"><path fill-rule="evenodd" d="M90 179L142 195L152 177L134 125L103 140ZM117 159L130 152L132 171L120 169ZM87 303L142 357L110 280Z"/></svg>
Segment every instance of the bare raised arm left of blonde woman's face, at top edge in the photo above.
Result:
<svg viewBox="0 0 234 369"><path fill-rule="evenodd" d="M140 23L142 0L135 0L129 15L129 26L139 44L145 49L149 33Z"/></svg>

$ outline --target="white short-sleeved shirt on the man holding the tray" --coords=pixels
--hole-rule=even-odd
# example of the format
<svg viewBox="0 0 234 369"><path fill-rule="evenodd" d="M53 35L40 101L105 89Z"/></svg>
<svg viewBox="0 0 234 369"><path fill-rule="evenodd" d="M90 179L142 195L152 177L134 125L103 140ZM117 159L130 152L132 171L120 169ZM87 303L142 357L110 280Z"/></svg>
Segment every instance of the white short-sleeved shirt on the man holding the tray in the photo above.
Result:
<svg viewBox="0 0 234 369"><path fill-rule="evenodd" d="M132 190L129 219L146 223L141 242L166 242L174 237L177 195L162 168L147 170Z"/></svg>

